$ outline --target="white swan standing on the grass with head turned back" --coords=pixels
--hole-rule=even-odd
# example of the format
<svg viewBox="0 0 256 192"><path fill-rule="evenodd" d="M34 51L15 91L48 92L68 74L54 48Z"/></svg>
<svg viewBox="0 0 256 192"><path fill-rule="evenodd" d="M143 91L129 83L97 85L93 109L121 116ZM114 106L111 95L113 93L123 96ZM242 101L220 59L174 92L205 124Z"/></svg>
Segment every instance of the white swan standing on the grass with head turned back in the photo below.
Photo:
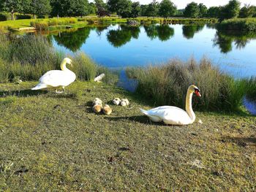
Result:
<svg viewBox="0 0 256 192"><path fill-rule="evenodd" d="M75 81L75 73L67 69L66 64L72 66L70 58L64 58L61 62L61 70L52 70L46 72L39 79L39 84L31 90L39 90L43 88L56 88L56 93L63 93L65 87ZM63 92L58 92L57 88L61 87Z"/></svg>

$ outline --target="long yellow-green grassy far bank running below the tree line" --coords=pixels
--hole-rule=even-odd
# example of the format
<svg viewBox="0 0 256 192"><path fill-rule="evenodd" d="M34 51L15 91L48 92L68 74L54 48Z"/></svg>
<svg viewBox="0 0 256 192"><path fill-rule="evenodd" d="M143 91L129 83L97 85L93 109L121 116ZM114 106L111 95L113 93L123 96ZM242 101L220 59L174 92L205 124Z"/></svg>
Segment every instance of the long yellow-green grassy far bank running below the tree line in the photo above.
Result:
<svg viewBox="0 0 256 192"><path fill-rule="evenodd" d="M24 19L24 20L7 20L0 22L0 31L7 32L17 31L19 28L35 27L37 30L52 30L58 26L82 27L89 24L106 24L106 23L127 23L129 20L137 20L138 23L218 23L216 18L117 18L117 17L85 17L85 18L48 18L48 19Z"/></svg>

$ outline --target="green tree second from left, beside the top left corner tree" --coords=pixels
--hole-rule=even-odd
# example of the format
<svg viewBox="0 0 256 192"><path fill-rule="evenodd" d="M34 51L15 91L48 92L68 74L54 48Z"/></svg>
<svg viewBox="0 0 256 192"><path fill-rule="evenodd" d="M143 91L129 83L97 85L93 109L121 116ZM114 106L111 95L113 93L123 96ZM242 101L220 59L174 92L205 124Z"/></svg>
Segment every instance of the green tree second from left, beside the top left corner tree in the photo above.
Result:
<svg viewBox="0 0 256 192"><path fill-rule="evenodd" d="M36 15L49 15L50 14L50 0L31 0L28 13Z"/></svg>

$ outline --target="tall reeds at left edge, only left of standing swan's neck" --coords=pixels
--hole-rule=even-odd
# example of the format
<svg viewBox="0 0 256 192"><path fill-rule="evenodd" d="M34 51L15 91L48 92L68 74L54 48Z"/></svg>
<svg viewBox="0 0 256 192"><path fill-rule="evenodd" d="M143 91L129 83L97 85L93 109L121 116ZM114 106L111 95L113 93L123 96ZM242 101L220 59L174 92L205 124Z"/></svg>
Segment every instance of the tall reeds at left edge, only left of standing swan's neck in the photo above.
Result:
<svg viewBox="0 0 256 192"><path fill-rule="evenodd" d="M22 77L23 80L38 80L44 72L57 69L61 54L53 49L48 39L27 35L19 38L0 35L0 81Z"/></svg>

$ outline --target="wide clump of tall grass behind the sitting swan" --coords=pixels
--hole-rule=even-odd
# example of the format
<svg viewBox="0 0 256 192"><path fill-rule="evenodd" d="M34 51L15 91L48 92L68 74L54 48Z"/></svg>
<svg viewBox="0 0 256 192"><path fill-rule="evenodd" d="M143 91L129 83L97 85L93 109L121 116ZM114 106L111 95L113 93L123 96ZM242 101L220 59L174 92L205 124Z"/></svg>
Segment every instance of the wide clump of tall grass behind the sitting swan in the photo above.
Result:
<svg viewBox="0 0 256 192"><path fill-rule="evenodd" d="M202 98L196 98L193 104L200 110L239 110L244 95L256 86L249 80L237 80L221 72L207 58L200 62L194 58L187 62L172 60L162 66L128 69L127 74L138 80L137 91L158 105L184 107L187 88L197 85Z"/></svg>

